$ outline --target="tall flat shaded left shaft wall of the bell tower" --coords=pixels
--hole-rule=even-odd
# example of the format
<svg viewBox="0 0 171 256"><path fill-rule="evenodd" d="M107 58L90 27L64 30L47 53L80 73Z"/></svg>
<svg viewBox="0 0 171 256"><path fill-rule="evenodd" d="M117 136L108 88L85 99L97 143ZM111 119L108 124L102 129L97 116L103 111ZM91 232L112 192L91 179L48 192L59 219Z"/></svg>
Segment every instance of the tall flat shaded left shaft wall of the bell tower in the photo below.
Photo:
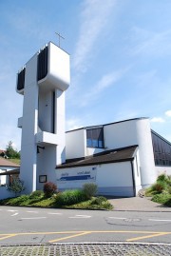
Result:
<svg viewBox="0 0 171 256"><path fill-rule="evenodd" d="M26 65L25 93L22 120L22 144L20 178L25 181L26 191L36 189L37 147L34 135L38 125L37 54Z"/></svg>

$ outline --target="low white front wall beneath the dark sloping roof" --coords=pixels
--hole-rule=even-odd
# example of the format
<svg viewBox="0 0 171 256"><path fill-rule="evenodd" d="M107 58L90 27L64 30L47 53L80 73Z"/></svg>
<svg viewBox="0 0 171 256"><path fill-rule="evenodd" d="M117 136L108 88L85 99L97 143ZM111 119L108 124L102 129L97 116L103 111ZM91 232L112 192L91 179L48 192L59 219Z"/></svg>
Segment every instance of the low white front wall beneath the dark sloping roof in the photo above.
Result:
<svg viewBox="0 0 171 256"><path fill-rule="evenodd" d="M95 169L95 170L94 170ZM90 172L92 180L60 181L62 175L75 176L80 172ZM94 174L93 171L96 171ZM93 172L93 173L92 173ZM57 169L57 187L60 190L81 188L85 183L95 183L98 186L98 194L114 196L133 196L132 167L130 162L114 163L98 166L72 167Z"/></svg>

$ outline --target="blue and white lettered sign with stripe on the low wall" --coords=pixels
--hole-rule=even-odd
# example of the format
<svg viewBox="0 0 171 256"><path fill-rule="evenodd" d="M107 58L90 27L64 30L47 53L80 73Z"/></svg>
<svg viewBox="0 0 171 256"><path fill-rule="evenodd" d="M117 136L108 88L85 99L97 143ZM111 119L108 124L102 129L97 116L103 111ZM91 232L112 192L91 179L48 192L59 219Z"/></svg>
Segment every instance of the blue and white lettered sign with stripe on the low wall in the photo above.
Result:
<svg viewBox="0 0 171 256"><path fill-rule="evenodd" d="M95 182L96 181L96 167L89 167L86 169L69 169L57 170L57 182Z"/></svg>

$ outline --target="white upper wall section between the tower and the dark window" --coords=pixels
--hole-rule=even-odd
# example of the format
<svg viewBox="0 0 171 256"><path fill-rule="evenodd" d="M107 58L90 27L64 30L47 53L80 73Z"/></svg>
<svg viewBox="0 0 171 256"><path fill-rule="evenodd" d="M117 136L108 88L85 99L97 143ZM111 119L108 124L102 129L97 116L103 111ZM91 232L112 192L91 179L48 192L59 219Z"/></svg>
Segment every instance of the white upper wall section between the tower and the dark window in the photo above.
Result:
<svg viewBox="0 0 171 256"><path fill-rule="evenodd" d="M66 132L66 159L85 157L85 128Z"/></svg>

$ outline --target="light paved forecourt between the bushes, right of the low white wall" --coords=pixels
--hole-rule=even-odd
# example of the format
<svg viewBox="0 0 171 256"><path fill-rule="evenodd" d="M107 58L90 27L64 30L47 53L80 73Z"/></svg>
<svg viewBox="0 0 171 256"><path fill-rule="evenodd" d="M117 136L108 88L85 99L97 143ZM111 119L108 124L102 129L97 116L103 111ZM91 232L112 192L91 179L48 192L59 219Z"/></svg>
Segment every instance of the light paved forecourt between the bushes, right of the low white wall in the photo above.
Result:
<svg viewBox="0 0 171 256"><path fill-rule="evenodd" d="M171 212L171 207L163 207L161 204L154 203L151 198L130 197L130 198L113 198L108 199L113 205L113 210L130 210L130 211L166 211Z"/></svg>

